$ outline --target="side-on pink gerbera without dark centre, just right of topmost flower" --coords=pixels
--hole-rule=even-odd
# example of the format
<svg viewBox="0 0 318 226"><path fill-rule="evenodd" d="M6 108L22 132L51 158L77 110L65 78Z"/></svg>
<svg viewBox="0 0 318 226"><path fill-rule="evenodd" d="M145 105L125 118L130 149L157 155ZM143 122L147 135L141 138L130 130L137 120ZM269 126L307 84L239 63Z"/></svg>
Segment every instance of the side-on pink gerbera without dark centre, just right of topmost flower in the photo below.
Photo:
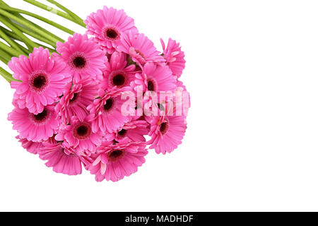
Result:
<svg viewBox="0 0 318 226"><path fill-rule="evenodd" d="M120 52L129 54L131 59L139 66L147 62L165 62L165 59L160 56L160 52L155 49L153 42L143 34L129 32L128 34L122 35L121 42L119 42L117 49Z"/></svg>

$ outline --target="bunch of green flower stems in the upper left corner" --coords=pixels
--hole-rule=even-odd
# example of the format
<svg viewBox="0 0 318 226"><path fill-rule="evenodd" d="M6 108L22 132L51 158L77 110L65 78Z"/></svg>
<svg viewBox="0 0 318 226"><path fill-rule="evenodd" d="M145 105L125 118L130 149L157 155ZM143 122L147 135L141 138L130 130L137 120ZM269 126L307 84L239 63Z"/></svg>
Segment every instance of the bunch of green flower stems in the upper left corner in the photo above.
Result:
<svg viewBox="0 0 318 226"><path fill-rule="evenodd" d="M40 3L35 0L23 0L29 4L33 4L39 8L49 11L58 16L66 18L82 27L86 28L83 20L76 16L75 13L70 11L68 8L62 6L54 0L47 0L49 3L54 4L57 8L52 8L45 4ZM27 19L25 16L29 16L32 19ZM4 64L8 64L8 61L12 57L19 57L20 55L28 56L35 47L44 47L49 49L49 52L56 52L57 42L64 42L60 37L54 35L49 30L37 25L36 21L33 19L40 20L48 25L51 25L63 32L70 35L74 34L73 30L55 23L52 20L38 16L35 13L30 13L19 8L13 8L6 4L4 1L0 0L0 21L6 27L0 25L0 61ZM0 75L6 79L6 81L16 81L11 73L0 67Z"/></svg>

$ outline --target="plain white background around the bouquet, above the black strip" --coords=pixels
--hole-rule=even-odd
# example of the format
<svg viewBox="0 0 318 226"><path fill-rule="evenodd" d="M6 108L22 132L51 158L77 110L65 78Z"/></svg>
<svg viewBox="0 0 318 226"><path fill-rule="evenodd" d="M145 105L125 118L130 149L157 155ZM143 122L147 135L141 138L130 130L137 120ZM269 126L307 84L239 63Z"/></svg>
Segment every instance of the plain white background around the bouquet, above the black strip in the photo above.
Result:
<svg viewBox="0 0 318 226"><path fill-rule="evenodd" d="M317 1L62 3L83 18L124 8L158 49L160 37L181 42L189 129L175 153L151 152L121 182L55 174L20 148L6 120L13 90L1 80L0 210L318 210Z"/></svg>

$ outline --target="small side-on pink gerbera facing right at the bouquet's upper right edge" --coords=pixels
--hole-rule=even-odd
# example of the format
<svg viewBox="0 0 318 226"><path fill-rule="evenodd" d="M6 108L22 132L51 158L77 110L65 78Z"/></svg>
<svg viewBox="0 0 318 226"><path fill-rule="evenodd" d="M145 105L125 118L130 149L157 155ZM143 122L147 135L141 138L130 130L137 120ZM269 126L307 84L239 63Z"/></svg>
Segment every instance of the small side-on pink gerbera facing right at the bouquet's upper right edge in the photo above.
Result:
<svg viewBox="0 0 318 226"><path fill-rule="evenodd" d="M163 56L170 67L174 76L179 78L182 75L182 71L185 68L186 61L184 60L184 52L182 52L180 44L175 40L169 39L167 43L167 48L165 47L165 42L161 39L161 44L163 45Z"/></svg>

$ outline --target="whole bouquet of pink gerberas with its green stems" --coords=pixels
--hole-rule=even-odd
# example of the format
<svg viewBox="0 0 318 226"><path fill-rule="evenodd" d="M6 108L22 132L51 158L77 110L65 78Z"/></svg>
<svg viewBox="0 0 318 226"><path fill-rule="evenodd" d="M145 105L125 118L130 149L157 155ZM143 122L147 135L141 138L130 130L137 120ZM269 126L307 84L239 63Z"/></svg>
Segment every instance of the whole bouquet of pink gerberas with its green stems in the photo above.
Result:
<svg viewBox="0 0 318 226"><path fill-rule="evenodd" d="M148 149L171 153L187 129L189 93L179 77L184 52L161 40L163 52L139 33L122 10L107 8L81 20L59 8L25 0L87 28L78 34L0 0L0 68L15 90L8 114L17 139L54 172L82 167L102 182L117 182L143 165ZM60 37L24 15L53 25Z"/></svg>

